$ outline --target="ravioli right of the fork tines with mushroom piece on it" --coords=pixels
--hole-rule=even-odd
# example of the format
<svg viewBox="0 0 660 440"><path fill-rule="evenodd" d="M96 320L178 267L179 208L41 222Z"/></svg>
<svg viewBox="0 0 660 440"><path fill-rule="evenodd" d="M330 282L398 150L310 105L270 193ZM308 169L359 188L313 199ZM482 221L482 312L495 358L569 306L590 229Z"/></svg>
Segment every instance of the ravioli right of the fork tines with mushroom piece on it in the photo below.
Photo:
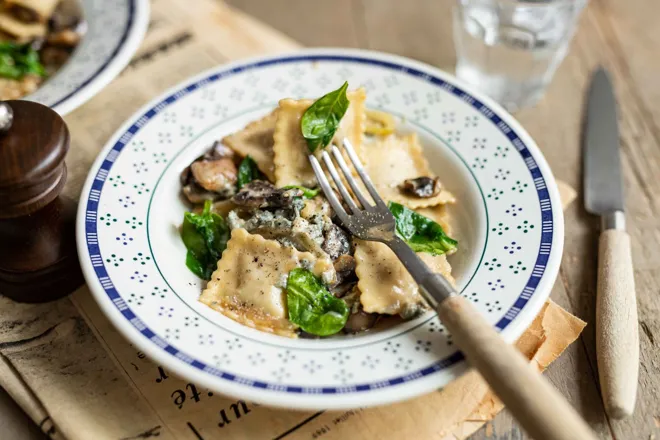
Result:
<svg viewBox="0 0 660 440"><path fill-rule="evenodd" d="M415 209L456 201L445 189L429 198L419 198L399 189L399 185L406 179L433 177L415 133L378 137L365 143L362 147L362 160L378 194L386 202L397 202Z"/></svg>

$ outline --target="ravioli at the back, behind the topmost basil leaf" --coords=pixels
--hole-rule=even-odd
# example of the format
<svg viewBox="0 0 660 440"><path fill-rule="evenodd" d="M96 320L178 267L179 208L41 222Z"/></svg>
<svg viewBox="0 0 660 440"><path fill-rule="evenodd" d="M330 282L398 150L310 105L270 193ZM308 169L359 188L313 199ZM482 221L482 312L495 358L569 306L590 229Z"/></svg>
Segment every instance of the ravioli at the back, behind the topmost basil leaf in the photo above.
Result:
<svg viewBox="0 0 660 440"><path fill-rule="evenodd" d="M335 143L340 144L346 137L353 145L358 155L361 155L362 133L365 124L366 93L364 89L350 91L347 94L350 105L339 124L335 134ZM275 185L317 186L314 171L309 164L309 149L300 131L300 119L305 110L314 103L311 99L283 99L278 108L275 124L274 146L275 154Z"/></svg>

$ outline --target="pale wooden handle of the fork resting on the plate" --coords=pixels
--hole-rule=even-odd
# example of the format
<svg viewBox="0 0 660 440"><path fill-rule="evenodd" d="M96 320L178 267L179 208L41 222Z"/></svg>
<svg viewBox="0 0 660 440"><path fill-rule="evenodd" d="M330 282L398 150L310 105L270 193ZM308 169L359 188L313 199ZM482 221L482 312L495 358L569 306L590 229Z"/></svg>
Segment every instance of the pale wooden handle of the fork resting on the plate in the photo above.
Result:
<svg viewBox="0 0 660 440"><path fill-rule="evenodd" d="M465 298L444 300L438 315L468 362L534 439L596 439L561 394Z"/></svg>

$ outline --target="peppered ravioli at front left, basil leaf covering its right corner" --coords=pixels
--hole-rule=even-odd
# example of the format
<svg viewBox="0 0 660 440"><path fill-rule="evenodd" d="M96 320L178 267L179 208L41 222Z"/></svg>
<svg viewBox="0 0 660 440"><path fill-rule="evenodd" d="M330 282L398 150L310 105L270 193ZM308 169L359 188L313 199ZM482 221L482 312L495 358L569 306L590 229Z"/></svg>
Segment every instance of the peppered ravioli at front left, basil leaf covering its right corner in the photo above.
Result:
<svg viewBox="0 0 660 440"><path fill-rule="evenodd" d="M296 267L319 278L336 277L329 259L234 229L199 300L243 325L295 338L297 326L288 320L285 287Z"/></svg>

